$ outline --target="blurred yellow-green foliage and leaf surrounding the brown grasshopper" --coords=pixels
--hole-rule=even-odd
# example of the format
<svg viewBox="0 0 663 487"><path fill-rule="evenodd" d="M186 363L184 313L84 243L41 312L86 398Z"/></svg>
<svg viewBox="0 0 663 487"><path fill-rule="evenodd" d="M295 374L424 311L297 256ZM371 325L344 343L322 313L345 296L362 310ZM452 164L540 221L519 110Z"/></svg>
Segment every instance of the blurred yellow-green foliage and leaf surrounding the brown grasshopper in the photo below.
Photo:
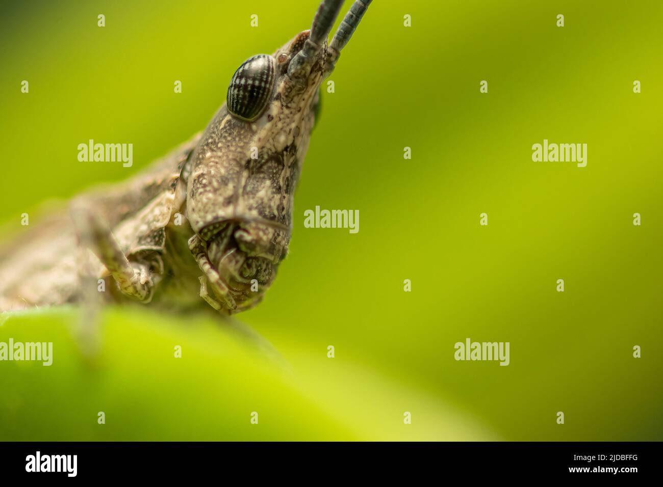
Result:
<svg viewBox="0 0 663 487"><path fill-rule="evenodd" d="M4 2L0 221L203 129L317 5ZM663 439L662 21L660 1L376 0L324 95L290 255L235 318L273 349L127 307L86 359L75 309L11 316L0 341L53 341L54 365L0 362L0 440ZM133 167L78 162L90 138L133 143ZM587 167L532 162L544 138L587 143ZM305 229L316 205L359 209L359 233ZM455 361L467 337L511 364Z"/></svg>

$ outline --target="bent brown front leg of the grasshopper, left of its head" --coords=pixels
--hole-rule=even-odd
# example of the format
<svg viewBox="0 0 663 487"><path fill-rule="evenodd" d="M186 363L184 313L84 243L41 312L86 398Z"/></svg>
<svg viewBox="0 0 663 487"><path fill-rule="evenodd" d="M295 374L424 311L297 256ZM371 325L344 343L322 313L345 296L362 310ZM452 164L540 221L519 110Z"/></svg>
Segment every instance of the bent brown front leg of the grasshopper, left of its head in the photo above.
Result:
<svg viewBox="0 0 663 487"><path fill-rule="evenodd" d="M119 290L126 296L149 303L158 274L148 262L129 262L113 237L111 229L100 215L88 209L72 211L79 241L97 256L111 274Z"/></svg>

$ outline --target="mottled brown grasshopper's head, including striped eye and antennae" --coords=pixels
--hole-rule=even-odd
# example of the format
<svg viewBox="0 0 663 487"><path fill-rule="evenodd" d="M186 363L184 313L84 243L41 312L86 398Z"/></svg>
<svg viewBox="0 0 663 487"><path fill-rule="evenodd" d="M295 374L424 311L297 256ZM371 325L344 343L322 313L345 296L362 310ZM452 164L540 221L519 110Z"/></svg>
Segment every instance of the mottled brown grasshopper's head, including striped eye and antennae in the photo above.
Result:
<svg viewBox="0 0 663 487"><path fill-rule="evenodd" d="M233 294L237 307L259 300L286 255L320 84L371 0L355 1L328 44L342 3L322 1L310 30L239 66L192 154L186 211L211 265L231 293L263 276L259 294Z"/></svg>

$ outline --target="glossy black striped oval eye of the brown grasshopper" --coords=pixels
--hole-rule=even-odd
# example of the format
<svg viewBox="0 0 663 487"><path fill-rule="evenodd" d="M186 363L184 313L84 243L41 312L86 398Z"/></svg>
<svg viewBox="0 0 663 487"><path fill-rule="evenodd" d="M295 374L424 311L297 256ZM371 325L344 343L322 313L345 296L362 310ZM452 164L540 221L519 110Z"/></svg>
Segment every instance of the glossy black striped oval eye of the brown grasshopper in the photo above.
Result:
<svg viewBox="0 0 663 487"><path fill-rule="evenodd" d="M258 54L247 59L230 80L226 98L228 111L249 122L257 119L274 87L274 58Z"/></svg>

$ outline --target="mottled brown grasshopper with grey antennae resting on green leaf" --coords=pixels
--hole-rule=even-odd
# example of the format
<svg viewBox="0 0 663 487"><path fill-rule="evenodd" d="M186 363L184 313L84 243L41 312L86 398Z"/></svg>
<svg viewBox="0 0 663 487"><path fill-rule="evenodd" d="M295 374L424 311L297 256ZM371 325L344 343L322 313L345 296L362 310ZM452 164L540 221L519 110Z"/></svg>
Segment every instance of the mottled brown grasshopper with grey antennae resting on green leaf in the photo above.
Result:
<svg viewBox="0 0 663 487"><path fill-rule="evenodd" d="M294 191L320 85L371 0L323 0L310 30L252 56L204 132L122 184L75 197L0 250L0 310L75 303L90 290L224 314L263 299L288 253Z"/></svg>

